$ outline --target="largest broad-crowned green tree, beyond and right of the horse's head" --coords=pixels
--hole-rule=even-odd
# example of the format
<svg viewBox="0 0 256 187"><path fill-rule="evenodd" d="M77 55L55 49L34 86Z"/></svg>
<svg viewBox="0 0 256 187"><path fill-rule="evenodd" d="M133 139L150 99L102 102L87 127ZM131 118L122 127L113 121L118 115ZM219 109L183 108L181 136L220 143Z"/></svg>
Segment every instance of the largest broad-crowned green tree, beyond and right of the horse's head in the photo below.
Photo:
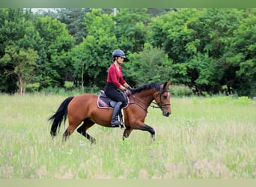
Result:
<svg viewBox="0 0 256 187"><path fill-rule="evenodd" d="M233 79L225 53L242 15L236 9L177 9L152 19L148 40L174 61L175 82L219 93Z"/></svg>

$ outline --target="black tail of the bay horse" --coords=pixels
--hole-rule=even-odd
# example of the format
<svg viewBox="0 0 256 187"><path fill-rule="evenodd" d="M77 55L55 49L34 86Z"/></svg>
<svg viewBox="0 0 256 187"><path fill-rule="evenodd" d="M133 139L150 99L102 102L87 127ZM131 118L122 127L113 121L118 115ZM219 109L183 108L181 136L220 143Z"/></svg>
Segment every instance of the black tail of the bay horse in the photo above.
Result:
<svg viewBox="0 0 256 187"><path fill-rule="evenodd" d="M53 114L52 117L49 117L49 120L53 120L51 132L50 132L52 135L52 138L54 138L55 135L57 134L57 129L59 131L61 127L61 122L63 119L65 123L67 118L67 105L70 103L73 97L74 96L70 96L67 99L64 99L64 101L61 103L61 105L59 106L55 114Z"/></svg>

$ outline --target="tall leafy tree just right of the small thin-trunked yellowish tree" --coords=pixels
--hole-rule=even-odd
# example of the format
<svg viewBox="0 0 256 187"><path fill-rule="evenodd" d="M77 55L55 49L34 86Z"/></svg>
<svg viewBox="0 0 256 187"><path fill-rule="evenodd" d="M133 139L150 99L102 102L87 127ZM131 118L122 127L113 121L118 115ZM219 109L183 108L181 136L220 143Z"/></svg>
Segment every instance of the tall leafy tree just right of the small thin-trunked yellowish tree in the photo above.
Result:
<svg viewBox="0 0 256 187"><path fill-rule="evenodd" d="M37 62L35 82L40 82L42 88L63 86L72 71L70 50L74 44L73 37L68 34L66 25L58 19L39 14L36 16L35 28L43 38L43 49L40 52L40 61Z"/></svg>

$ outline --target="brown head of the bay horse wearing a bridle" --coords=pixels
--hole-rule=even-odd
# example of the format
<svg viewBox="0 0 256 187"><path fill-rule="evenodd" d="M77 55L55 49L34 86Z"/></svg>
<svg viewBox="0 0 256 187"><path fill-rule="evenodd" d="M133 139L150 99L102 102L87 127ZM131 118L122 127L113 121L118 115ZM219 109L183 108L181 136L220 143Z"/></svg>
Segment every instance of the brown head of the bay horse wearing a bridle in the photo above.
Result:
<svg viewBox="0 0 256 187"><path fill-rule="evenodd" d="M171 85L171 82L165 82L165 84L160 87L160 90L156 91L156 94L154 95L157 105L161 108L162 114L166 117L171 114L171 93L168 88L169 85Z"/></svg>

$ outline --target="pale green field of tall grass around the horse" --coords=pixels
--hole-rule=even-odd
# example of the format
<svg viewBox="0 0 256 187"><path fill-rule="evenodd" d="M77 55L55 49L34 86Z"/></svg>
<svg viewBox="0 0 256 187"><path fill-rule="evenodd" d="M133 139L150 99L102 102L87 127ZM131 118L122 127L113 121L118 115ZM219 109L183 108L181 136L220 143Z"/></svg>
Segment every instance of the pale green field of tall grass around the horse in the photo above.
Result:
<svg viewBox="0 0 256 187"><path fill-rule="evenodd" d="M150 108L156 131L93 126L52 140L48 117L66 96L0 95L1 179L255 179L256 101L241 97L171 98L172 114ZM67 127L67 124L66 124Z"/></svg>

